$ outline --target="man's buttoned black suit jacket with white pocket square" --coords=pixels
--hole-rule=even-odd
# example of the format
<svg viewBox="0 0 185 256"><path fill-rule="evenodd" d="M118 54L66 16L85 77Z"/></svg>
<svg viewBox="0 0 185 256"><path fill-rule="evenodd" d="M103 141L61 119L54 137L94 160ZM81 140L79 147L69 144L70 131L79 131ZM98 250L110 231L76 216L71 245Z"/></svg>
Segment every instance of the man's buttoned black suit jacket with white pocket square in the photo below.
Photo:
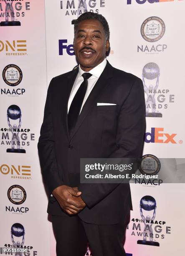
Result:
<svg viewBox="0 0 185 256"><path fill-rule="evenodd" d="M142 80L106 67L86 100L71 137L67 107L78 68L54 77L48 87L41 136L38 142L44 183L53 189L78 186L86 207L79 217L88 223L115 224L129 213L129 184L80 184L80 158L137 158L142 155L145 101ZM97 102L117 105L97 106ZM54 197L48 213L71 216Z"/></svg>

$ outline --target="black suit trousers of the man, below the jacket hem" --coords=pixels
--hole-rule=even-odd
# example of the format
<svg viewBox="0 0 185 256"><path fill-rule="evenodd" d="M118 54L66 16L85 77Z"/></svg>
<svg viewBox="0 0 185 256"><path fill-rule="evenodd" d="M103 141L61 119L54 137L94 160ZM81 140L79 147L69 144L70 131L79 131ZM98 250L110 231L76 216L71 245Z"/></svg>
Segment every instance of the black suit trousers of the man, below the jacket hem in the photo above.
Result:
<svg viewBox="0 0 185 256"><path fill-rule="evenodd" d="M114 225L96 225L82 221L78 215L52 215L52 223L57 256L84 256L88 244L92 256L126 256L124 218Z"/></svg>

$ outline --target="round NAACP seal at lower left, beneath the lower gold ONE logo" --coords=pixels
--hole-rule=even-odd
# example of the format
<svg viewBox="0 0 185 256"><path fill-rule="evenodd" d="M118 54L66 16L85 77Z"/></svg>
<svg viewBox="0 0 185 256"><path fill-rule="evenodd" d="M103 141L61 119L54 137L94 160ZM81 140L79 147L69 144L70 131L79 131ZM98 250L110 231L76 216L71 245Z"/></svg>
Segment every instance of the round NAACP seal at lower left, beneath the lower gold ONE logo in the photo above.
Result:
<svg viewBox="0 0 185 256"><path fill-rule="evenodd" d="M14 205L21 205L26 200L26 192L20 185L13 185L8 189L8 199Z"/></svg>

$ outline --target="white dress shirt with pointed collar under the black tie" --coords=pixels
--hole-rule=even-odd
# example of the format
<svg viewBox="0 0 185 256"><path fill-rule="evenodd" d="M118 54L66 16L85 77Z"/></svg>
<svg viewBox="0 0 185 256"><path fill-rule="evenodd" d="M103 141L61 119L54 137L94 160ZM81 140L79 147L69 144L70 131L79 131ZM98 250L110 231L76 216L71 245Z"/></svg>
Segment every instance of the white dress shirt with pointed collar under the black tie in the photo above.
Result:
<svg viewBox="0 0 185 256"><path fill-rule="evenodd" d="M84 81L84 78L82 77L82 74L90 73L90 74L92 74L92 76L89 77L89 79L88 79L87 90L86 90L86 94L85 94L85 97L84 97L84 101L81 105L81 110L82 110L87 98L89 97L89 94L90 94L91 90L93 89L93 87L96 84L97 80L99 79L101 73L103 72L105 66L106 66L106 59L104 59L100 64L98 64L96 67L91 69L89 72L85 72L84 70L82 70L80 65L79 65L79 73L76 76L76 79L75 79L75 82L73 84L73 88L71 90L71 94L70 94L69 100L68 100L68 112L69 112L71 102L72 102L76 92L78 91L81 83ZM81 110L80 110L80 112L81 112Z"/></svg>

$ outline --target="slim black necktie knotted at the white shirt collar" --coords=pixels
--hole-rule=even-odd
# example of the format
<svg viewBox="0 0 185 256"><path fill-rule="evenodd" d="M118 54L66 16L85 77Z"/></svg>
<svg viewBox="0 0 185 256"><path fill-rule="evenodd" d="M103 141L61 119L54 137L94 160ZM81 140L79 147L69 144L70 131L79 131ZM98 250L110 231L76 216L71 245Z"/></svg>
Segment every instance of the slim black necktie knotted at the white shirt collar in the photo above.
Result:
<svg viewBox="0 0 185 256"><path fill-rule="evenodd" d="M87 90L87 84L88 84L87 79L89 79L89 77L91 77L91 75L92 74L90 74L90 73L82 74L82 77L84 77L84 81L81 83L78 91L76 92L76 94L71 102L71 106L70 106L69 112L68 112L69 133L76 125L76 121L80 114L81 105L84 101L84 97L85 97L86 90Z"/></svg>

